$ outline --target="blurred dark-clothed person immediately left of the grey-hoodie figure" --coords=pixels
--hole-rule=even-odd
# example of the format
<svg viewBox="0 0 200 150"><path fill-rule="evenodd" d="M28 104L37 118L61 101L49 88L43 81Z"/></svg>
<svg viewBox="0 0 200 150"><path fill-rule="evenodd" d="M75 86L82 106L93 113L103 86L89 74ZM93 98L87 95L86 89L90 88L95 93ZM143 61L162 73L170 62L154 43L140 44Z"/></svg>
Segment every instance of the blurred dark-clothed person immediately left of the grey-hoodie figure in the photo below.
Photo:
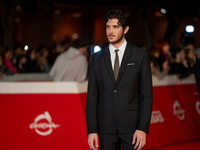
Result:
<svg viewBox="0 0 200 150"><path fill-rule="evenodd" d="M49 54L49 50L46 46L44 45L39 46L38 54L37 54L37 57L38 57L37 65L40 67L40 69L43 72L49 72L51 69L48 59L47 59L48 54Z"/></svg>

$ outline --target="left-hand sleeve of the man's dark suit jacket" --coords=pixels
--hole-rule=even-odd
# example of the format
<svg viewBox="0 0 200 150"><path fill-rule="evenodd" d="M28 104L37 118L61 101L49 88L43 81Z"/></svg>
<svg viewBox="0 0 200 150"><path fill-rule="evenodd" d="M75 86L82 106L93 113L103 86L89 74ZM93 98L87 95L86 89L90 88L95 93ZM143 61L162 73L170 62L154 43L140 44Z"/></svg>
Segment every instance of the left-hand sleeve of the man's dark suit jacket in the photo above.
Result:
<svg viewBox="0 0 200 150"><path fill-rule="evenodd" d="M88 92L87 92L87 104L86 104L86 122L87 122L87 135L90 133L97 133L97 102L98 102L98 84L95 76L94 68L94 55L92 56L89 80L88 80Z"/></svg>

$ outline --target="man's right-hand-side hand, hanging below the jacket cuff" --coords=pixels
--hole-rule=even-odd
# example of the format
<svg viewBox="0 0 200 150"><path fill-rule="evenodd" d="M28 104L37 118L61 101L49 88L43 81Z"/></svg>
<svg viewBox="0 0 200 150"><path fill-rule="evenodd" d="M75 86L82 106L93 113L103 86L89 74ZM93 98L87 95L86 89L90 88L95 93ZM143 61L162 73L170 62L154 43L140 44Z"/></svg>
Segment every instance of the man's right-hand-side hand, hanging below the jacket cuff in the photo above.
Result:
<svg viewBox="0 0 200 150"><path fill-rule="evenodd" d="M137 139L137 142L136 142L136 139ZM136 142L136 144L135 144L135 142ZM141 150L144 147L144 145L146 144L146 133L141 130L136 130L135 133L133 134L132 144L135 144L134 149L136 149L138 147L137 150Z"/></svg>

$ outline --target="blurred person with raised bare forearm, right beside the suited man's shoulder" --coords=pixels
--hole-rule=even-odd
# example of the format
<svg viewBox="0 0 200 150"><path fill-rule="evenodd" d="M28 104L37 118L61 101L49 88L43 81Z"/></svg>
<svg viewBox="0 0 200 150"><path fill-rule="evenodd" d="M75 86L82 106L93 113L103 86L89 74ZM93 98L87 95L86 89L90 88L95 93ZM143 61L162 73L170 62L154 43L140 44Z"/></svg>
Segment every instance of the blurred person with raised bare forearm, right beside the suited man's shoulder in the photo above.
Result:
<svg viewBox="0 0 200 150"><path fill-rule="evenodd" d="M163 70L160 71L160 66L158 64L158 60L159 60L159 50L153 46L149 49L149 53L150 53L150 63L151 63L151 72L153 75L155 75L158 79L162 79L164 78L169 71L169 66L168 66L168 62L164 61L162 64L162 68Z"/></svg>

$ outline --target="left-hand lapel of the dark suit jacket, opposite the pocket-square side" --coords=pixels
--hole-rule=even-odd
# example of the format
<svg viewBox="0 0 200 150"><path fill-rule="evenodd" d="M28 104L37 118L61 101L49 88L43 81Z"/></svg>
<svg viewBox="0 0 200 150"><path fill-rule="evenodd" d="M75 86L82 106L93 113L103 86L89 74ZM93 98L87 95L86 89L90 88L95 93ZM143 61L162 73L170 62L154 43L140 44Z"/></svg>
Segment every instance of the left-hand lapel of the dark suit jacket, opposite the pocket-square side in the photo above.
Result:
<svg viewBox="0 0 200 150"><path fill-rule="evenodd" d="M104 61L106 63L106 67L108 69L110 77L111 77L113 83L115 83L115 77L114 77L112 64L111 64L111 59L110 59L110 51L109 51L108 47L105 48L103 55L104 55Z"/></svg>

